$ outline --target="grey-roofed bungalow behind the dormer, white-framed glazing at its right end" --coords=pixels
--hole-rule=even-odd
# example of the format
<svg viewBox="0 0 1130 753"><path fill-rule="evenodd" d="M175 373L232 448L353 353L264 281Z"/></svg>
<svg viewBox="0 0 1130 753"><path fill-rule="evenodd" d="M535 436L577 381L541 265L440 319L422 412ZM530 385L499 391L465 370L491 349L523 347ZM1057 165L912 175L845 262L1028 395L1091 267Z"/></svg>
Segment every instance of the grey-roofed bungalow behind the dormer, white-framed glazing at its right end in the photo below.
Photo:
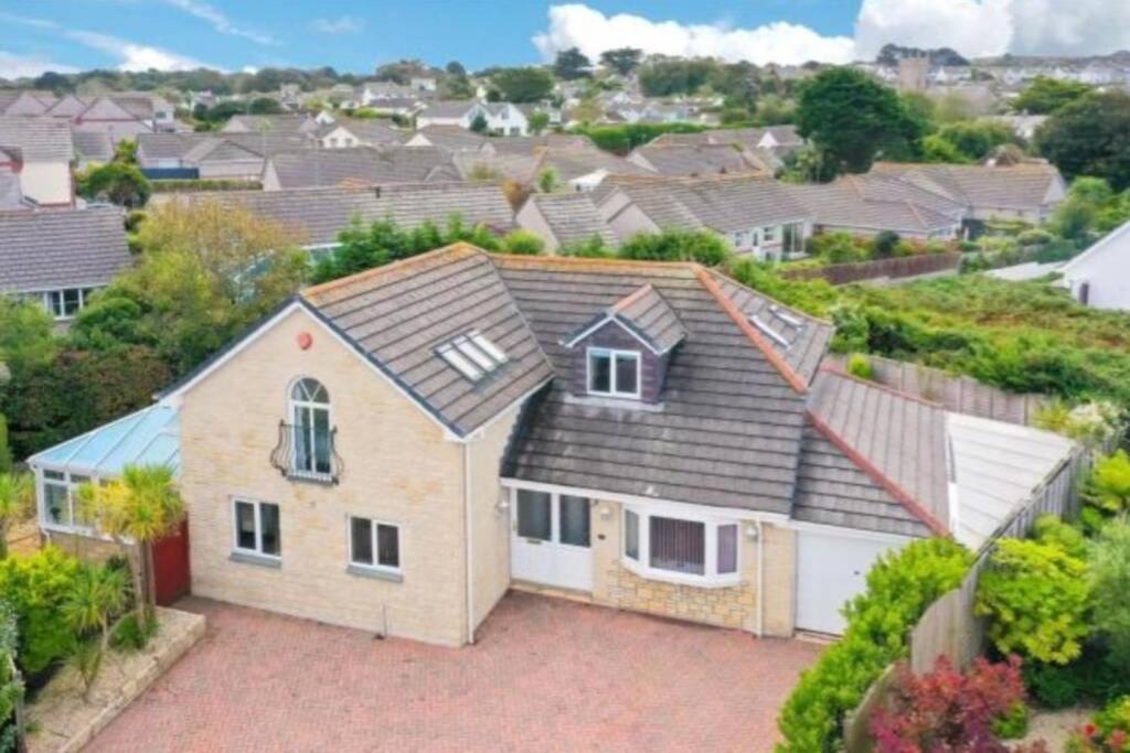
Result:
<svg viewBox="0 0 1130 753"><path fill-rule="evenodd" d="M784 184L757 176L607 178L597 208L621 242L666 228L707 229L734 252L781 261L805 249L811 213Z"/></svg>

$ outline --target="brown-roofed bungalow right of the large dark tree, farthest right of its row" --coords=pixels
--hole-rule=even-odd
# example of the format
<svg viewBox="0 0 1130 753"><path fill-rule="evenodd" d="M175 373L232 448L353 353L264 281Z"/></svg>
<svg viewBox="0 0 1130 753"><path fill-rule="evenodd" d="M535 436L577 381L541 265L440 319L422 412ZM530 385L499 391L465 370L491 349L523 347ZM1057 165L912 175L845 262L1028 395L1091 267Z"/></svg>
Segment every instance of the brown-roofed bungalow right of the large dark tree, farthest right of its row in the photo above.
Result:
<svg viewBox="0 0 1130 753"><path fill-rule="evenodd" d="M1067 195L1053 165L920 165L876 163L869 175L893 177L966 208L967 225L991 220L1043 222Z"/></svg>

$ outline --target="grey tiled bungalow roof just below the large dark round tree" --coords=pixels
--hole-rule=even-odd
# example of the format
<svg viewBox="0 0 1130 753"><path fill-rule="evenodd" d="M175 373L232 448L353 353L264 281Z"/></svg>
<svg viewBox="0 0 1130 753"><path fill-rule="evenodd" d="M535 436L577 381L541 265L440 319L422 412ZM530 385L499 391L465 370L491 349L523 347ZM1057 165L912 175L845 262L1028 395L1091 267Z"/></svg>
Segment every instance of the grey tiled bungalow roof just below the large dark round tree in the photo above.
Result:
<svg viewBox="0 0 1130 753"><path fill-rule="evenodd" d="M832 183L782 183L802 204L817 233L845 231L905 238L954 239L962 235L966 207L946 195L877 175L849 175Z"/></svg>

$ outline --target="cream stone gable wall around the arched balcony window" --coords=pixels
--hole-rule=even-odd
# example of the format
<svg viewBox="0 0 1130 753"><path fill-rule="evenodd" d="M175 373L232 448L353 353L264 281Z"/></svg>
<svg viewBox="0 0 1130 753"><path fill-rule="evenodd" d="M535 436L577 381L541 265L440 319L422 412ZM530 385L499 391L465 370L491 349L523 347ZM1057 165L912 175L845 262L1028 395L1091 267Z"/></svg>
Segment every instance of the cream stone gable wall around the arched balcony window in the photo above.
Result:
<svg viewBox="0 0 1130 753"><path fill-rule="evenodd" d="M302 332L314 340L306 351L296 344ZM329 391L345 463L338 487L292 482L270 464L289 385L301 376ZM278 322L183 400L193 593L372 632L464 641L463 448L415 403L305 312ZM472 465L489 465L488 445L508 432L504 423L472 449ZM233 497L279 505L281 568L229 559ZM400 526L402 583L346 572L348 515ZM480 551L492 531L484 524ZM480 554L480 562L492 559ZM490 572L479 579L487 595L498 589L496 564Z"/></svg>

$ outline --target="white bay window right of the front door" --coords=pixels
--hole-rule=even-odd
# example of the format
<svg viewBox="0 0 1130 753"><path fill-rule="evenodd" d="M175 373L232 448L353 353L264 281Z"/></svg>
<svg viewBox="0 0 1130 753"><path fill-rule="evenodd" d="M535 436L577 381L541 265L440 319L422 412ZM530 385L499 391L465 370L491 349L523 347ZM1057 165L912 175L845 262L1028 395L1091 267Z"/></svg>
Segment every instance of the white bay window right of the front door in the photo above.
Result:
<svg viewBox="0 0 1130 753"><path fill-rule="evenodd" d="M623 563L636 575L696 586L740 580L740 525L725 518L624 506Z"/></svg>

